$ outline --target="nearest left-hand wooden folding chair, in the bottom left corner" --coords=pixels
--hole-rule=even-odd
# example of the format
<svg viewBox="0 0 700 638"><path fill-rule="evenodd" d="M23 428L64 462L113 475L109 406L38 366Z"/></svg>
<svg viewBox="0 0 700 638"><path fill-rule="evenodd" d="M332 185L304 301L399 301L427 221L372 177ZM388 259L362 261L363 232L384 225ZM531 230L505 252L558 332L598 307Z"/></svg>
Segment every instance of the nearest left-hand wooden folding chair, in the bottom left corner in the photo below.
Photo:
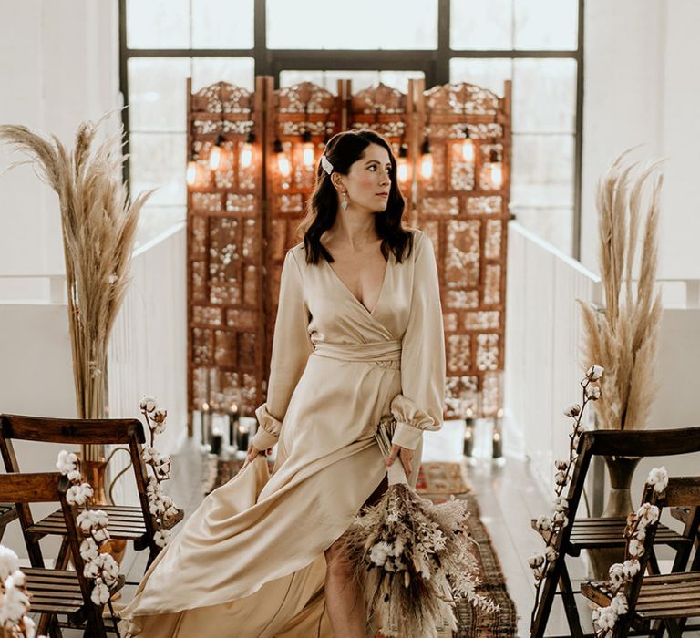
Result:
<svg viewBox="0 0 700 638"><path fill-rule="evenodd" d="M114 628L105 626L102 619L104 605L96 605L90 599L93 583L83 573L85 562L80 556L81 536L77 530L77 512L66 500L69 487L68 479L58 472L0 474L0 500L14 499L19 511L29 509L29 503L60 502L61 509L58 511L63 517L68 547L76 566L75 571L44 567L22 568L30 594L30 612L41 614L37 635L47 631L52 638L56 638L61 635L61 627L84 627L83 635L103 638L108 631L118 633L118 630L116 625ZM20 515L19 519L21 522L23 517ZM33 548L32 551L36 549ZM118 592L123 585L124 577L120 576L109 591ZM65 622L60 622L61 616L66 616Z"/></svg>

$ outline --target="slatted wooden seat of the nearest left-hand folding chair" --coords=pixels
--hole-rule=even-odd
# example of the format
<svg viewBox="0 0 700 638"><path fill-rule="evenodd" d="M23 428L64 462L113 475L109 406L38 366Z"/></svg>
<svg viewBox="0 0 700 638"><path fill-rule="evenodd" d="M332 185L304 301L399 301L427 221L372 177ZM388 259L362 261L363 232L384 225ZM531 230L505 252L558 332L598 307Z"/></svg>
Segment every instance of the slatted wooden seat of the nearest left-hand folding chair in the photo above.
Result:
<svg viewBox="0 0 700 638"><path fill-rule="evenodd" d="M83 609L83 595L75 571L46 570L38 567L23 567L26 589L30 594L32 612L76 614ZM110 592L118 592L125 578L119 576Z"/></svg>

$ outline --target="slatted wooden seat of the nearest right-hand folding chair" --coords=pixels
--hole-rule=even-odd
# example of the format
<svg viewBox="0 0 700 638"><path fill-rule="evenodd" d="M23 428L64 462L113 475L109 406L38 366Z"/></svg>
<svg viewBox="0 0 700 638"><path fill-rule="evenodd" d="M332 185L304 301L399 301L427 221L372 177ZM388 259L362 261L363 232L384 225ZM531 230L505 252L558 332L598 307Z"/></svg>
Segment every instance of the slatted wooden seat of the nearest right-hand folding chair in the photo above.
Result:
<svg viewBox="0 0 700 638"><path fill-rule="evenodd" d="M607 582L586 582L582 594L608 606L612 592ZM636 607L636 618L646 621L700 615L700 571L644 576Z"/></svg>

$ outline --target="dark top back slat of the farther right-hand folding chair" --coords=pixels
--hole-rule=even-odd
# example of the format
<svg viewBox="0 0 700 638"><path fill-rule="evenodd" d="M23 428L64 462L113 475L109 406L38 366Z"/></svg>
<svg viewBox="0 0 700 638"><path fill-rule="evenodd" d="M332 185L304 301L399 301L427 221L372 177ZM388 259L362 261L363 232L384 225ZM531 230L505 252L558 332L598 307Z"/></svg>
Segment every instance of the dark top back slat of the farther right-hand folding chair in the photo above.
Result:
<svg viewBox="0 0 700 638"><path fill-rule="evenodd" d="M700 452L700 427L595 430L582 436L592 438L591 452L596 456L665 457Z"/></svg>

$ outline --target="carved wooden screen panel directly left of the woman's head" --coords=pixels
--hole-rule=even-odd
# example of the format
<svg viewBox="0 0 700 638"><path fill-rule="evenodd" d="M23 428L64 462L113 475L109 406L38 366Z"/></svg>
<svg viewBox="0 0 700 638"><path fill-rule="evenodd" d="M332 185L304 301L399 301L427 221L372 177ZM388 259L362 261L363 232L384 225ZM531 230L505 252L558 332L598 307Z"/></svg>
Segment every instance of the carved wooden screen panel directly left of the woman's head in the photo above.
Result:
<svg viewBox="0 0 700 638"><path fill-rule="evenodd" d="M346 82L338 82L338 92L334 95L311 82L273 90L273 78L266 81L270 96L266 109L267 375L284 255L299 242L296 227L314 190L325 142L345 127Z"/></svg>

